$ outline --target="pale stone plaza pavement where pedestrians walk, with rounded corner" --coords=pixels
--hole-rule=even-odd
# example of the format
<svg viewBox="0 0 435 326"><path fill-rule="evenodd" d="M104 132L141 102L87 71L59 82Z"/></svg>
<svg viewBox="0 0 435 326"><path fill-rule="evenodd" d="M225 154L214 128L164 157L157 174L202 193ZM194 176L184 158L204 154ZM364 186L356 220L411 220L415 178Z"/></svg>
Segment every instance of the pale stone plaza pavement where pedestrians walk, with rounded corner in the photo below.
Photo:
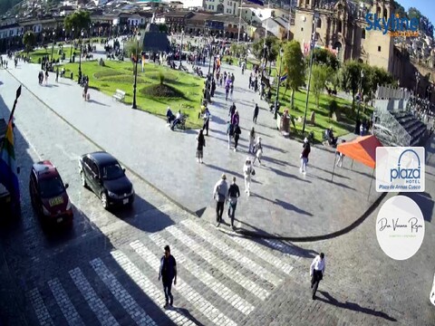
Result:
<svg viewBox="0 0 435 326"><path fill-rule="evenodd" d="M9 67L13 67L12 62ZM207 68L206 62L203 71L207 72ZM166 121L141 110L131 110L129 105L113 101L99 91L91 90L91 101L82 101L82 88L76 82L60 78L56 83L53 73L48 85L40 86L36 78L39 70L38 64L19 62L16 69L10 68L8 72L24 85L23 91L33 92L140 177L210 222L214 220L212 190L222 173L228 180L236 176L242 191L237 206L237 230L258 235L289 238L328 235L351 225L379 197L374 187L368 194L372 170L357 162L351 169L349 159L344 159L343 168L335 170L332 182L333 149L322 145L313 147L308 173L301 175L302 143L285 139L277 132L266 102L247 89L249 72L242 75L237 66L224 64L222 72L234 72L236 76L233 99L241 118L239 150L227 149L226 122L231 101L225 101L224 90L218 87L210 106L212 120L203 165L195 160L196 130L173 132ZM86 68L82 70L86 74ZM260 113L258 124L254 125L252 112L256 102ZM179 110L175 105L171 109ZM25 112L17 110L16 114ZM50 128L50 121L43 123ZM242 168L253 126L262 137L264 157L262 166L256 163L251 197L247 197Z"/></svg>

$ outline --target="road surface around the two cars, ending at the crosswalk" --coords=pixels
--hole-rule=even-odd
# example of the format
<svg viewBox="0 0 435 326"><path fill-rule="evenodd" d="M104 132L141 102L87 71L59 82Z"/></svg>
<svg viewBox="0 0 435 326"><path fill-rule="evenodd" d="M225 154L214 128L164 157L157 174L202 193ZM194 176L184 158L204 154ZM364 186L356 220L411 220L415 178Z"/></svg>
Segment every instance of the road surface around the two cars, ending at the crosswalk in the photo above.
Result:
<svg viewBox="0 0 435 326"><path fill-rule="evenodd" d="M5 102L1 103L2 115L7 116L8 110L5 103L13 103L14 91L18 83L12 77L5 77L2 85L2 95ZM8 85L7 90L5 85ZM7 105L11 107L9 104ZM124 222L125 226L131 225L142 232L155 232L173 224L170 215L172 207L168 199L161 196L147 186L137 177L127 171L135 187L136 200L131 210L105 211L101 202L91 191L81 186L78 173L78 156L82 153L98 150L98 148L85 139L77 131L59 119L52 111L44 107L33 95L23 90L15 111L16 156L18 164L22 167L20 185L23 193L23 218L15 232L6 236L6 245L13 245L18 239L23 244L23 256L32 261L37 260L43 253L50 251L61 243L68 243L73 238L109 227L110 225ZM25 139L30 139L26 141ZM38 154L36 154L38 153ZM28 179L32 164L40 159L51 159L58 167L63 182L69 183L68 194L74 206L73 229L69 233L55 238L55 241L43 233L37 216L34 214L28 196ZM169 214L153 211L159 207L165 208ZM182 216L182 214L178 214ZM35 249L37 248L37 251Z"/></svg>

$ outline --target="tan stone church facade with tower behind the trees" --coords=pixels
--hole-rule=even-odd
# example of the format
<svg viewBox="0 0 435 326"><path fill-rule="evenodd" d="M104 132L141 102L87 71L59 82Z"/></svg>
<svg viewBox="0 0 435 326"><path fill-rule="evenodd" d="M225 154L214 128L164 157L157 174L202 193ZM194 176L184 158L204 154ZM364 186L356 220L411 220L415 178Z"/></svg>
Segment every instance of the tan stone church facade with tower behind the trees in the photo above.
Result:
<svg viewBox="0 0 435 326"><path fill-rule="evenodd" d="M341 62L357 60L393 72L394 42L389 34L366 31L366 14L389 17L394 13L390 0L373 0L373 5L352 1L299 0L295 12L294 39L309 51L313 35L314 12L319 18L314 27L315 44L336 53Z"/></svg>

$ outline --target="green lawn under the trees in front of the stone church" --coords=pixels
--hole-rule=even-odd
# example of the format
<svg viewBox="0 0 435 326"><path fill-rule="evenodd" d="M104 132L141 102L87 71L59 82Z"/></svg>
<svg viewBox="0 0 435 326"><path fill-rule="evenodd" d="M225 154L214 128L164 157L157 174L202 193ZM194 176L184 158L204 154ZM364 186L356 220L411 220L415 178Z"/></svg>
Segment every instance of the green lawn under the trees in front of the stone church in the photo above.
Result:
<svg viewBox="0 0 435 326"><path fill-rule="evenodd" d="M276 90L275 90L276 91ZM273 94L275 95L275 91ZM281 112L285 109L289 109L290 114L295 117L296 123L296 134L299 137L303 137L302 129L303 129L303 120L304 120L304 110L305 110L305 101L306 101L306 91L296 91L295 92L295 110L290 110L290 101L291 101L291 90L286 91L285 88L280 88L280 103L281 103ZM285 96L284 96L285 93ZM272 99L275 99L275 96L272 96ZM331 101L335 100L338 104L338 111L340 112L341 120L338 122L330 119L329 115L329 107ZM305 124L305 133L310 131L314 131L314 139L317 141L322 141L323 132L328 127L333 127L333 132L335 136L342 136L349 132L353 132L355 119L356 119L356 108L352 110L352 103L350 101L343 100L341 98L335 96L329 96L327 94L323 94L319 99L319 108L316 108L315 105L315 97L310 92L309 101L308 101L308 110L306 113L306 121ZM310 124L310 118L312 111L315 112L315 126ZM372 113L372 108L360 108L360 119L363 120L368 119L370 114ZM298 122L298 118L302 118L301 122ZM292 131L294 131L292 126ZM293 132L294 134L294 132Z"/></svg>

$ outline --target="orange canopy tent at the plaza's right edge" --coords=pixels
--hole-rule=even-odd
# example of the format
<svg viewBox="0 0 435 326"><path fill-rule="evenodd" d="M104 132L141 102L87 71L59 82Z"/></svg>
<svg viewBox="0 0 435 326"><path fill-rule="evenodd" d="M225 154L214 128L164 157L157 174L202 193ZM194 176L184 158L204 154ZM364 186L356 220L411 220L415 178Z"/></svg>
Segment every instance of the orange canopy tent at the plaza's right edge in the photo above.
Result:
<svg viewBox="0 0 435 326"><path fill-rule="evenodd" d="M357 137L349 142L344 142L337 146L337 152L343 153L348 158L352 158L363 165L373 169L372 179L370 181L370 190L372 189L372 181L374 175L374 168L376 168L376 148L382 147L381 141L379 141L374 135ZM335 162L333 164L333 173L335 171ZM368 197L367 197L368 199Z"/></svg>

